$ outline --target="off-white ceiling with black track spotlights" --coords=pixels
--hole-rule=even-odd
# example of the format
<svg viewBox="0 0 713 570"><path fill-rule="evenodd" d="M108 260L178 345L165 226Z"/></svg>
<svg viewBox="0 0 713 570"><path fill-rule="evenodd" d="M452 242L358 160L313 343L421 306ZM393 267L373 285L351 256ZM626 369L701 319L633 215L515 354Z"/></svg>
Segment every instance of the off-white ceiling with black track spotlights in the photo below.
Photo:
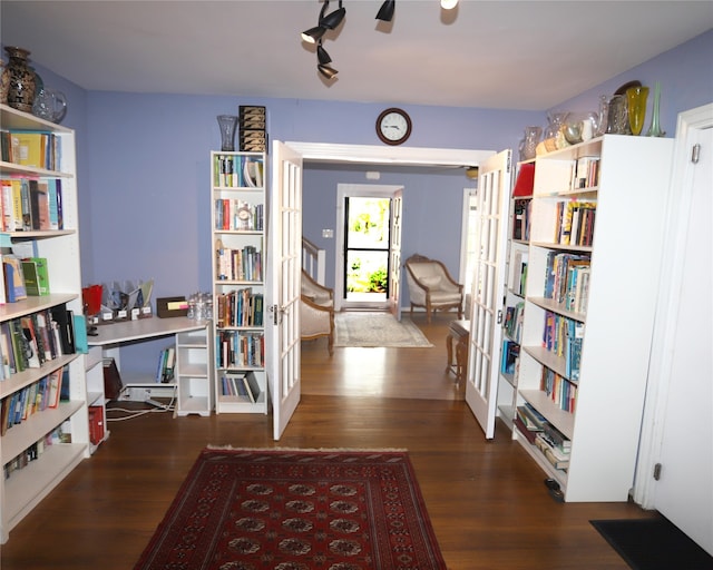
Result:
<svg viewBox="0 0 713 570"><path fill-rule="evenodd" d="M1 39L88 90L545 110L713 28L712 1L343 6L332 81L300 38L318 0L2 0Z"/></svg>

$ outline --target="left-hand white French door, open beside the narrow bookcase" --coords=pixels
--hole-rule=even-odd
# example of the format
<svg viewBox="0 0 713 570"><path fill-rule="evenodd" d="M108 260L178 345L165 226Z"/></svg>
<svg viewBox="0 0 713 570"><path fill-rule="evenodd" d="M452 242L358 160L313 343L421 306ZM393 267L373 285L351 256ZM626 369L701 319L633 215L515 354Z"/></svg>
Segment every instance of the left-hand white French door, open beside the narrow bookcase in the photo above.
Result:
<svg viewBox="0 0 713 570"><path fill-rule="evenodd" d="M266 372L273 438L282 436L300 403L300 289L302 275L302 156L275 140L272 154L267 264L271 351Z"/></svg>

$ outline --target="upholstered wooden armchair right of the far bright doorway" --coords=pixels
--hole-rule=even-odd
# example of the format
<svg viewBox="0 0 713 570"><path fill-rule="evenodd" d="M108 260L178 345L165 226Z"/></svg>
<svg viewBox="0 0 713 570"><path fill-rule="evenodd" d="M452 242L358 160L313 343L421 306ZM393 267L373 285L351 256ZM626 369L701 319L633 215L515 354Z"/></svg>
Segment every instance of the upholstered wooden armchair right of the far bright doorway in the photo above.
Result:
<svg viewBox="0 0 713 570"><path fill-rule="evenodd" d="M450 276L441 262L414 254L403 265L411 315L414 306L424 307L427 322L430 323L431 313L455 308L458 311L458 318L462 318L463 286Z"/></svg>

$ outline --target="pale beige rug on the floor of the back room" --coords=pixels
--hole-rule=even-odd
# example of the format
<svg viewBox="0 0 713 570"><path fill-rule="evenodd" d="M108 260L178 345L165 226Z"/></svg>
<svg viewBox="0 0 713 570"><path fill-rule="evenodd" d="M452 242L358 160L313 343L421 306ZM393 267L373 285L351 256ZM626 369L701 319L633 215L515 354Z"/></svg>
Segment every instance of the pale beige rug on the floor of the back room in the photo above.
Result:
<svg viewBox="0 0 713 570"><path fill-rule="evenodd" d="M334 315L334 346L420 348L433 346L407 317L401 322L391 313L348 312Z"/></svg>

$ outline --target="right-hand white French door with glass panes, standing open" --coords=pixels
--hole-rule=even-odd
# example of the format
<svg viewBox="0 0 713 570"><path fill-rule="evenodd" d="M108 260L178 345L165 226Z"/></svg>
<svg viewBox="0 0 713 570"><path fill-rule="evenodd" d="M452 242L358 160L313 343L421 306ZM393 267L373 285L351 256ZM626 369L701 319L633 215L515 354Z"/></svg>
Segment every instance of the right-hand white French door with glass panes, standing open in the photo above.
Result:
<svg viewBox="0 0 713 570"><path fill-rule="evenodd" d="M466 402L486 439L495 436L497 413L510 170L511 151L504 150L480 165L478 178Z"/></svg>

